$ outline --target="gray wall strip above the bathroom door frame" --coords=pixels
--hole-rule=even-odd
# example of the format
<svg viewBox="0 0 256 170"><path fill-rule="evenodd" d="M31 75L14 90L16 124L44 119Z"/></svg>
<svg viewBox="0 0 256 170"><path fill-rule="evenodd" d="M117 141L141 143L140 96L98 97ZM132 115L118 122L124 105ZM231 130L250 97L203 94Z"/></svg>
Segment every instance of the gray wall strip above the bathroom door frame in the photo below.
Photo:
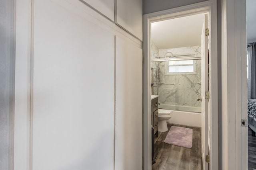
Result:
<svg viewBox="0 0 256 170"><path fill-rule="evenodd" d="M143 0L143 14L168 10L184 5L195 4L206 0Z"/></svg>

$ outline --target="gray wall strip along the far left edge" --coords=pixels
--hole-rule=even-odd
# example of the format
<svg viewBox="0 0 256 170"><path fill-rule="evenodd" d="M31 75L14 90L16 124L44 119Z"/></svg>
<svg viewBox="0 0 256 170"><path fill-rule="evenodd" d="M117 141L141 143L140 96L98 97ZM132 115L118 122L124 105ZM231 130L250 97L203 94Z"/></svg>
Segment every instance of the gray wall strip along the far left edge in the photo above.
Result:
<svg viewBox="0 0 256 170"><path fill-rule="evenodd" d="M0 170L12 168L14 0L0 0Z"/></svg>

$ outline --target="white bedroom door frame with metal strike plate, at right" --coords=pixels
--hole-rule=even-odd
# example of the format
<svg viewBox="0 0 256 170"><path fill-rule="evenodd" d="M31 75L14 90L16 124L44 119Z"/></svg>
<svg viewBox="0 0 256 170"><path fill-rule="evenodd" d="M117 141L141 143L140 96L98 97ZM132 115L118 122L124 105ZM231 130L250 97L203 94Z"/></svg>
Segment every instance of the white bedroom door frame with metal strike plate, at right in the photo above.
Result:
<svg viewBox="0 0 256 170"><path fill-rule="evenodd" d="M222 0L219 30L221 55L220 169L248 169L246 0Z"/></svg>

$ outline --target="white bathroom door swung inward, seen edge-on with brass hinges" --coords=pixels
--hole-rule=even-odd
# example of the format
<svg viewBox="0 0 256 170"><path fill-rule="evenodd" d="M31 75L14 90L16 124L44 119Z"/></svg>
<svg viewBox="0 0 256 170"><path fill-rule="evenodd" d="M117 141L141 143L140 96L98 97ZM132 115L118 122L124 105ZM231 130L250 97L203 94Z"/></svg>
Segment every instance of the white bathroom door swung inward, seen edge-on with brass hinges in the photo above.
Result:
<svg viewBox="0 0 256 170"><path fill-rule="evenodd" d="M204 15L204 22L202 27L201 45L202 45L202 161L203 169L208 170L208 163L205 161L205 156L208 154L208 99L205 98L205 93L208 92L208 35L206 36L206 29L208 29L208 15ZM209 129L210 130L210 129Z"/></svg>

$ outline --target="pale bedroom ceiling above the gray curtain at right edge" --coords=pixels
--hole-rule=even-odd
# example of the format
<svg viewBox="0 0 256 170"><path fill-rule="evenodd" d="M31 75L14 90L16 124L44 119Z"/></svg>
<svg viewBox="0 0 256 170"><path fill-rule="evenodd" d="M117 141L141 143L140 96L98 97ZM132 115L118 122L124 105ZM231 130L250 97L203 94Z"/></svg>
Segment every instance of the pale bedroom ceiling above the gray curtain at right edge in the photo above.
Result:
<svg viewBox="0 0 256 170"><path fill-rule="evenodd" d="M256 41L256 0L246 0L247 42Z"/></svg>

